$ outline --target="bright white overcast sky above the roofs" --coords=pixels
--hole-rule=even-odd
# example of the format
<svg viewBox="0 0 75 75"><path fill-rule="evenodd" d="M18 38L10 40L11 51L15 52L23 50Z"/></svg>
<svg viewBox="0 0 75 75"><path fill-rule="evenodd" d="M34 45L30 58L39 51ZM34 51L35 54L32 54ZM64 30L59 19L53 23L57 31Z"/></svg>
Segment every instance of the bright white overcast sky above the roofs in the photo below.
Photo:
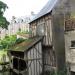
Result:
<svg viewBox="0 0 75 75"><path fill-rule="evenodd" d="M33 11L37 14L48 2L48 0L0 0L8 5L4 16L11 20L12 16L21 17L30 15Z"/></svg>

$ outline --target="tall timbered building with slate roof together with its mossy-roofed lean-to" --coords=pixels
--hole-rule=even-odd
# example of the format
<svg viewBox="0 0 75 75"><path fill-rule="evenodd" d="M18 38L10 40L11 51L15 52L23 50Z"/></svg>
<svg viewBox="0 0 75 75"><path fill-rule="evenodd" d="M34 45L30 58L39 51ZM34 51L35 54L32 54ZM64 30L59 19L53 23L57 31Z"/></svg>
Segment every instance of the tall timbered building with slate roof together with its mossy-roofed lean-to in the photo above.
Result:
<svg viewBox="0 0 75 75"><path fill-rule="evenodd" d="M56 0L46 6L29 23L31 43L15 46L8 54L11 70L16 74L43 75L56 69L55 51L52 49L52 9ZM37 40L35 40L35 37ZM41 38L40 38L41 37ZM22 67L22 68L21 68Z"/></svg>

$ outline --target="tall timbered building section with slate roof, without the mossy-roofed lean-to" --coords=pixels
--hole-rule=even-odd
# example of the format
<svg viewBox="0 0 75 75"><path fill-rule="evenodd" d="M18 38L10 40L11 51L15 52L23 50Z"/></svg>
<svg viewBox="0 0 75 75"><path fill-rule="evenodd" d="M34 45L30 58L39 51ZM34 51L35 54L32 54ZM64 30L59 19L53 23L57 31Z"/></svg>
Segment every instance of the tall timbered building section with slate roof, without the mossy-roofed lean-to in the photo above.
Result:
<svg viewBox="0 0 75 75"><path fill-rule="evenodd" d="M55 51L52 44L52 9L57 0L49 0L46 6L30 22L31 37L43 36L44 70L55 69Z"/></svg>

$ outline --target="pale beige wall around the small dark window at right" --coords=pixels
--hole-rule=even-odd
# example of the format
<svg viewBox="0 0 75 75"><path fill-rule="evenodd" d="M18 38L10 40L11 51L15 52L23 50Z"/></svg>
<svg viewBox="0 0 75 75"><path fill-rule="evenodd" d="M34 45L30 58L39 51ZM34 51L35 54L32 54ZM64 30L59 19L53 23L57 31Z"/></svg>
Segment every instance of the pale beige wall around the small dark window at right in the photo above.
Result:
<svg viewBox="0 0 75 75"><path fill-rule="evenodd" d="M66 62L70 63L70 70L75 72L75 48L71 47L71 41L75 41L75 30L65 33Z"/></svg>

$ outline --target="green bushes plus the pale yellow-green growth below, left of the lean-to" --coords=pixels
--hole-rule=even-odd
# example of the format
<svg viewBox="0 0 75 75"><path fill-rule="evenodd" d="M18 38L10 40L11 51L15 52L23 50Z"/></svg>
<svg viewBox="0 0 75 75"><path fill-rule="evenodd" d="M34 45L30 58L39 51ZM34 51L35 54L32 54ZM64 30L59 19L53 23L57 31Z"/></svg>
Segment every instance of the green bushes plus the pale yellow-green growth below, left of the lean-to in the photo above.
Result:
<svg viewBox="0 0 75 75"><path fill-rule="evenodd" d="M5 36L4 39L0 39L0 65L9 62L7 51L11 49L12 46L15 46L16 44L19 44L23 41L25 41L23 38L17 39L16 35ZM3 58L4 56L5 58ZM6 58L8 61L5 60Z"/></svg>

